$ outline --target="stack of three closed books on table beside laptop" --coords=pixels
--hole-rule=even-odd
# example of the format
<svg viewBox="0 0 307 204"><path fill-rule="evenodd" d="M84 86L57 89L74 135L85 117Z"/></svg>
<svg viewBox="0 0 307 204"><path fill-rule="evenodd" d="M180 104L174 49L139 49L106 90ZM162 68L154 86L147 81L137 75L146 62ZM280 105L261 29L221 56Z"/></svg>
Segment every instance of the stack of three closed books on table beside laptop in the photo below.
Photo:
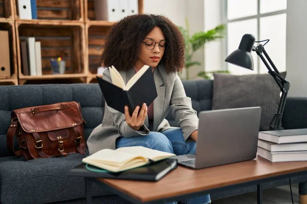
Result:
<svg viewBox="0 0 307 204"><path fill-rule="evenodd" d="M257 154L271 162L307 161L307 129L259 132Z"/></svg>

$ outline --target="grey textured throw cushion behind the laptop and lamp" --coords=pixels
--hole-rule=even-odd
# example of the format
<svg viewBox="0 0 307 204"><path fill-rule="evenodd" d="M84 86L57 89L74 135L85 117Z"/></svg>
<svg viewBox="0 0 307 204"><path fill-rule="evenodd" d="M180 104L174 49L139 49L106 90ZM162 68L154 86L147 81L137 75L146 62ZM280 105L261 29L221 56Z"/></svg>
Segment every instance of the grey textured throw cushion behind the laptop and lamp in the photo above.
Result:
<svg viewBox="0 0 307 204"><path fill-rule="evenodd" d="M286 72L281 75L286 77ZM212 110L260 106L260 131L270 130L269 123L278 109L279 101L280 88L268 73L214 73ZM282 129L281 121L280 127Z"/></svg>

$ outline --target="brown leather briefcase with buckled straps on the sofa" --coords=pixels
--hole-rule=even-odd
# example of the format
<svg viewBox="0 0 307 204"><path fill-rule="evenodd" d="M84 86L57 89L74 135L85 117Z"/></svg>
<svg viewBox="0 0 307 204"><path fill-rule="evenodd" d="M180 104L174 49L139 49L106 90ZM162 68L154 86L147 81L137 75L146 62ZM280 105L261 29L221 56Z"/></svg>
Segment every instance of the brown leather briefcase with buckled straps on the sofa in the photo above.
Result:
<svg viewBox="0 0 307 204"><path fill-rule="evenodd" d="M85 140L80 104L76 101L14 110L7 147L25 159L84 155ZM19 149L14 149L16 135Z"/></svg>

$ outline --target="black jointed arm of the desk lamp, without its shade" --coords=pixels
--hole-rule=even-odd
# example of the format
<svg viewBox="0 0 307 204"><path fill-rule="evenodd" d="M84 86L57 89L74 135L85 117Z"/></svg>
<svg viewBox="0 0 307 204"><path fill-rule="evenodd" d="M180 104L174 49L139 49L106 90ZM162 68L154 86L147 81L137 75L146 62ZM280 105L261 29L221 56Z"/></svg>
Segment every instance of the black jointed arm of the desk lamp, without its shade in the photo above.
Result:
<svg viewBox="0 0 307 204"><path fill-rule="evenodd" d="M258 46L253 47L252 50L255 51L257 53L257 55L260 57L260 59L262 60L262 62L264 62L267 69L269 70L269 74L273 77L275 82L278 84L280 91L281 91L281 97L280 97L277 112L274 114L274 117L272 118L272 120L269 124L270 130L278 130L279 126L280 126L280 120L282 118L284 106L286 105L286 100L287 100L288 90L290 88L290 83L287 80L285 80L281 77L279 71L277 70L276 66L272 62L271 58L269 57L269 55L266 52L263 45L259 44ZM274 71L271 69L268 62L264 58L264 56L262 56L262 52L264 53L264 55L268 59L269 63L273 67Z"/></svg>

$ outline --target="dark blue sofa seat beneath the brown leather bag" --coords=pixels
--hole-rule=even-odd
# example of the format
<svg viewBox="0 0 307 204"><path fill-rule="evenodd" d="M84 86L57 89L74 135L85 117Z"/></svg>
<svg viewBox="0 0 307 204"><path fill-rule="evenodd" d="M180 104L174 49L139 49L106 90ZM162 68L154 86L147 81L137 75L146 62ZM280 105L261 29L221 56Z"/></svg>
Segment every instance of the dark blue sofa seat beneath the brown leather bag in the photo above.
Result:
<svg viewBox="0 0 307 204"><path fill-rule="evenodd" d="M86 155L89 152L86 151ZM48 203L85 197L84 179L68 171L79 165L80 154L25 161L23 157L0 158L2 203ZM93 185L93 196L113 194Z"/></svg>

